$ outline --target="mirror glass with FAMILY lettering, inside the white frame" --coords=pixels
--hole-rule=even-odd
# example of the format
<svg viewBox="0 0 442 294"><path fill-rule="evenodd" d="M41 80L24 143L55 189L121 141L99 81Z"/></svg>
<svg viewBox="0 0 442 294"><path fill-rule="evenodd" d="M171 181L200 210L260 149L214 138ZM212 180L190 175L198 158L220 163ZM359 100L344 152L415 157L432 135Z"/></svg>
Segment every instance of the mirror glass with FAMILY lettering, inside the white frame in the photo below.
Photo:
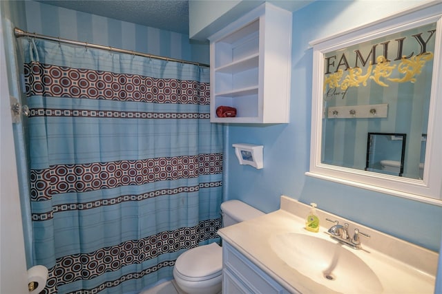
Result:
<svg viewBox="0 0 442 294"><path fill-rule="evenodd" d="M385 173L367 168L367 133L406 134L394 174L422 178L435 31L429 23L324 53L323 109L333 114L322 120L322 163ZM385 116L373 105L387 105Z"/></svg>

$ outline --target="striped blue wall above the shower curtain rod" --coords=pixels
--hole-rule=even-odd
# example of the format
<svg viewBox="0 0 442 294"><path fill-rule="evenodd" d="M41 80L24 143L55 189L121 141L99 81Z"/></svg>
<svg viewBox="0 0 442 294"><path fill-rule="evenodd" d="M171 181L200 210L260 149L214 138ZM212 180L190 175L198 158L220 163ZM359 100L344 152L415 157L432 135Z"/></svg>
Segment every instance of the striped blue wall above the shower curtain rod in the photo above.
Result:
<svg viewBox="0 0 442 294"><path fill-rule="evenodd" d="M186 34L35 1L25 6L28 32L209 64L209 45L191 43Z"/></svg>

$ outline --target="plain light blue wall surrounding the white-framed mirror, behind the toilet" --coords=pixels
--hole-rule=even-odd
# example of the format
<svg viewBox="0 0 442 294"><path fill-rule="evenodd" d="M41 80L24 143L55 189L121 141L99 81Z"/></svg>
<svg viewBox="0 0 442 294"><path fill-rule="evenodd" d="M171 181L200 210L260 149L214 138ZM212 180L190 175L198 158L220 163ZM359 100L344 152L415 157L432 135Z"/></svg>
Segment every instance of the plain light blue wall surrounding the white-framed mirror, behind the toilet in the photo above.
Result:
<svg viewBox="0 0 442 294"><path fill-rule="evenodd" d="M413 6L412 1L316 1L293 14L290 123L226 127L225 198L269 212L280 195L439 251L442 207L305 176L309 170L312 49L309 41ZM314 20L314 22L312 22ZM239 165L231 145L264 145L264 169ZM441 175L442 176L442 175Z"/></svg>

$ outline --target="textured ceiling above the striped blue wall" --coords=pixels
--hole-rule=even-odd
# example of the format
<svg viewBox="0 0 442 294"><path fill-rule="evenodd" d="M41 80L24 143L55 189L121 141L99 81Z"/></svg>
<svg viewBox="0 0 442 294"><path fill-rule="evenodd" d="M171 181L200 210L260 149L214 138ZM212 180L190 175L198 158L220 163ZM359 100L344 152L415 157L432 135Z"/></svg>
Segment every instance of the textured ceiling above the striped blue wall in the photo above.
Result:
<svg viewBox="0 0 442 294"><path fill-rule="evenodd" d="M185 0L37 0L102 17L189 34L189 1Z"/></svg>

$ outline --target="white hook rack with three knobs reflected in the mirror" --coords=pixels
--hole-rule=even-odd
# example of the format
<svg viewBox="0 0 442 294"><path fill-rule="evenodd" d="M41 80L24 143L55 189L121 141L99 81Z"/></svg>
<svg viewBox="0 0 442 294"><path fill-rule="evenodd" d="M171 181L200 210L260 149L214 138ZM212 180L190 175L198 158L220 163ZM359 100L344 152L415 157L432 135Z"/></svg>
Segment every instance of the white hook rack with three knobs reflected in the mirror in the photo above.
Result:
<svg viewBox="0 0 442 294"><path fill-rule="evenodd" d="M327 118L386 118L388 104L329 107Z"/></svg>

